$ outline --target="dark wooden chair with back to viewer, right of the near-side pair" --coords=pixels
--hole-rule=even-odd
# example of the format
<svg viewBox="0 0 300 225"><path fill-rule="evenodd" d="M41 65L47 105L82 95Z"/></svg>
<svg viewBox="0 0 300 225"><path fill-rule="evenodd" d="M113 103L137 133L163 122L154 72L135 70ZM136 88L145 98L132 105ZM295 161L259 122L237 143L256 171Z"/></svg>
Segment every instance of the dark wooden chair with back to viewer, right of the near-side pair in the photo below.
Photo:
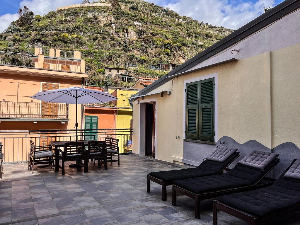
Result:
<svg viewBox="0 0 300 225"><path fill-rule="evenodd" d="M107 170L107 148L106 141L90 141L88 142L88 149L86 151L86 158L98 159L98 167L101 167L104 164L105 170Z"/></svg>

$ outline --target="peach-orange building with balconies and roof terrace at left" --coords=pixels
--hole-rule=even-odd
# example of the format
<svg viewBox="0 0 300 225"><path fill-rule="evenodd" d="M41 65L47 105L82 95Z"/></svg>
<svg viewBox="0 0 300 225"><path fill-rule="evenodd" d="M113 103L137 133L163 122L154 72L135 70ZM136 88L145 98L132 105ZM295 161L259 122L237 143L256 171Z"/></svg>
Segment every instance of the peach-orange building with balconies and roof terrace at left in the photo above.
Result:
<svg viewBox="0 0 300 225"><path fill-rule="evenodd" d="M0 52L0 132L73 129L75 105L45 103L29 97L38 91L81 87L87 76L79 51L36 48L35 55ZM79 105L79 128L82 111Z"/></svg>

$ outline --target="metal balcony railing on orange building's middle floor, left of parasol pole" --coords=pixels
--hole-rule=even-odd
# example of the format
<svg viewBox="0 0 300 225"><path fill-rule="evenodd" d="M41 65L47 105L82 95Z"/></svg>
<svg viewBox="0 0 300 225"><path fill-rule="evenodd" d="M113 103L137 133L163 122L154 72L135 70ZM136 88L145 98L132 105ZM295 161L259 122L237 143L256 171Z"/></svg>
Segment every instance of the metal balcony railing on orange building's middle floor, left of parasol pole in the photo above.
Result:
<svg viewBox="0 0 300 225"><path fill-rule="evenodd" d="M0 118L68 119L69 106L58 103L0 102Z"/></svg>

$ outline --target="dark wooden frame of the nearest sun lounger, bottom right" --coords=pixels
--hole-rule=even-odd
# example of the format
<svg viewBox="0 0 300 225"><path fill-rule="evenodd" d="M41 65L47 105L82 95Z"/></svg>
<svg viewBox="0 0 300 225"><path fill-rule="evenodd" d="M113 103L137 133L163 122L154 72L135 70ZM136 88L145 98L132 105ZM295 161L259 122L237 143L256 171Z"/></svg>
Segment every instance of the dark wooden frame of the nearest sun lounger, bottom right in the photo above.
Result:
<svg viewBox="0 0 300 225"><path fill-rule="evenodd" d="M292 164L295 163L296 160L292 162ZM289 166L289 168L292 166L292 164ZM285 174L289 168L284 171L283 174ZM258 216L251 213L248 213L246 211L240 210L238 208L235 208L233 206L230 206L224 202L220 202L219 200L214 200L212 202L213 205L213 225L218 224L218 210L226 212L234 217L237 217L241 220L244 220L245 222L249 223L250 225L262 225L266 224L268 220L278 218L278 216L289 213L289 212L295 212L300 210L300 204L292 205L290 207L283 208L281 210L275 210L273 212L267 213L264 216Z"/></svg>

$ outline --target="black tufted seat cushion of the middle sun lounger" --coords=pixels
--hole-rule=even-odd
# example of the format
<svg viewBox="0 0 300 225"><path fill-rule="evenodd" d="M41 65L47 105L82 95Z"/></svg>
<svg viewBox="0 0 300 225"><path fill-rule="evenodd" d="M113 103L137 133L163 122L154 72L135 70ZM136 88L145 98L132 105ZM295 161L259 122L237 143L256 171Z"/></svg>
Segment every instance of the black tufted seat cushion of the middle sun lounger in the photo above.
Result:
<svg viewBox="0 0 300 225"><path fill-rule="evenodd" d="M273 160L266 168L268 171L276 165ZM174 184L193 193L205 193L233 187L242 187L255 184L262 178L265 171L256 170L243 165L236 165L226 174L196 177L191 179L175 180Z"/></svg>

